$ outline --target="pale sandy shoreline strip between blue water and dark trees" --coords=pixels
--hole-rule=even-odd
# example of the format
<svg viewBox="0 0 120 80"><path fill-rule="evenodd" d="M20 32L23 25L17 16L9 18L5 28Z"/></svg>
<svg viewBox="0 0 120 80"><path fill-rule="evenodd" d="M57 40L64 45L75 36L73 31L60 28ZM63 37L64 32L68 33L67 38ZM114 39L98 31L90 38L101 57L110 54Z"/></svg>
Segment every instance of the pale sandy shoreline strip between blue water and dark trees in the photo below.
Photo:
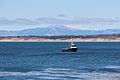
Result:
<svg viewBox="0 0 120 80"><path fill-rule="evenodd" d="M0 38L0 42L120 42L120 38Z"/></svg>

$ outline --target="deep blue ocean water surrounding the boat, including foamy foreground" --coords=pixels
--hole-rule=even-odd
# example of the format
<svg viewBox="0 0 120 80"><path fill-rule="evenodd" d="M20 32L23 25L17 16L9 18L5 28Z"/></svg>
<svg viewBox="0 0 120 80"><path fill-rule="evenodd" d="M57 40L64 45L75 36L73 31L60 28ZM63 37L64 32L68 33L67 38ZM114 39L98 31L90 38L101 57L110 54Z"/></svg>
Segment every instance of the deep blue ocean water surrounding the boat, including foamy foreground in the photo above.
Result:
<svg viewBox="0 0 120 80"><path fill-rule="evenodd" d="M119 42L1 42L0 80L120 80Z"/></svg>

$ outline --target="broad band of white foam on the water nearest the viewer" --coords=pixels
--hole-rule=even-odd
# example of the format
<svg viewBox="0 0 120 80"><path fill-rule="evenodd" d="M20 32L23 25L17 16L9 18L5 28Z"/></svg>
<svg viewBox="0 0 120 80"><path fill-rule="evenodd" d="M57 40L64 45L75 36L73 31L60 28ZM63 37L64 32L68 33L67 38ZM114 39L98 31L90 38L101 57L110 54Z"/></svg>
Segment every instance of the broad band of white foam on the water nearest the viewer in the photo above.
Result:
<svg viewBox="0 0 120 80"><path fill-rule="evenodd" d="M112 67L113 68L113 67ZM116 68L116 67L115 67ZM118 67L117 67L118 68ZM48 70L48 72L46 71ZM0 72L0 76L34 76L40 79L68 79L74 77L76 79L86 80L119 80L120 73L112 72L77 72L71 69L64 68L48 68L45 71L31 72ZM50 71L50 72L49 72Z"/></svg>

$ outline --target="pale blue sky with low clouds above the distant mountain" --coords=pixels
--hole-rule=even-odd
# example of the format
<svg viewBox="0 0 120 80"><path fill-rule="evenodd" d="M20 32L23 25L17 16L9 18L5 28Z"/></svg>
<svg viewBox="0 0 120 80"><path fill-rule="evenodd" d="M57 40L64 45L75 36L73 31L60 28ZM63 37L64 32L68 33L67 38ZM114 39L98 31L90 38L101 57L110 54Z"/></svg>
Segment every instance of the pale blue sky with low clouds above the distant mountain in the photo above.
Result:
<svg viewBox="0 0 120 80"><path fill-rule="evenodd" d="M0 30L20 30L51 25L45 22L38 24L39 18L47 18L47 21L49 18L48 22L54 18L62 19L63 22L64 20L81 21L79 24L70 24L70 21L69 24L64 24L80 29L119 28L120 0L0 0ZM15 23L18 19L29 20L33 24L28 26L25 20ZM100 22L96 23L96 19ZM88 20L92 23L88 24Z"/></svg>

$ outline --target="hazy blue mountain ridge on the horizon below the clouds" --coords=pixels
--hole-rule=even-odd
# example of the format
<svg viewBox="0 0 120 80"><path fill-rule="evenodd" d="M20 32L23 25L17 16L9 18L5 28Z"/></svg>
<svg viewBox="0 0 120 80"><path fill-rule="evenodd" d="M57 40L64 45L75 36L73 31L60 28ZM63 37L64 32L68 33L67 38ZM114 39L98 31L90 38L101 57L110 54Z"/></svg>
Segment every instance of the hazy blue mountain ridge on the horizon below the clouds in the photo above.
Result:
<svg viewBox="0 0 120 80"><path fill-rule="evenodd" d="M64 25L49 26L45 28L32 28L21 31L0 30L0 36L59 36L59 35L98 35L98 34L119 34L120 29L106 30L77 30Z"/></svg>

